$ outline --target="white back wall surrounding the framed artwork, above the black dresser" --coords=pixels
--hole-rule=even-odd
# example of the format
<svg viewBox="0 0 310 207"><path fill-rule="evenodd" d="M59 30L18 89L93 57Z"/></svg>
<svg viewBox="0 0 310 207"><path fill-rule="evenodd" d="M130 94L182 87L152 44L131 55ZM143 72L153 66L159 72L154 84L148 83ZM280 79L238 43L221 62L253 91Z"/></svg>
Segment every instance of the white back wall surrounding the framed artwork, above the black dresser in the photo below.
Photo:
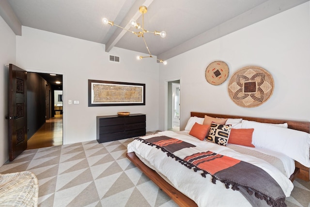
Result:
<svg viewBox="0 0 310 207"><path fill-rule="evenodd" d="M158 64L155 59L137 60L137 52L22 27L16 37L16 64L31 72L63 75L63 142L96 139L96 116L118 111L146 114L146 130L158 128ZM121 63L109 62L109 54ZM145 106L88 107L88 80L110 80L146 84ZM79 100L79 104L68 104Z"/></svg>

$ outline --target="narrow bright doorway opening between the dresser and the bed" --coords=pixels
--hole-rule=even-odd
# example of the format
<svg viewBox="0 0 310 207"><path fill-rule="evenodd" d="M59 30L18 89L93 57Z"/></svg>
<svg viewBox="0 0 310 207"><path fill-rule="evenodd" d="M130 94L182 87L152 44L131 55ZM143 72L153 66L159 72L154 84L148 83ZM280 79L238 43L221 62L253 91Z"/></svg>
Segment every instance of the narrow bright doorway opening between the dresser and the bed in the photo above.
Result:
<svg viewBox="0 0 310 207"><path fill-rule="evenodd" d="M168 82L168 130L180 131L180 80Z"/></svg>

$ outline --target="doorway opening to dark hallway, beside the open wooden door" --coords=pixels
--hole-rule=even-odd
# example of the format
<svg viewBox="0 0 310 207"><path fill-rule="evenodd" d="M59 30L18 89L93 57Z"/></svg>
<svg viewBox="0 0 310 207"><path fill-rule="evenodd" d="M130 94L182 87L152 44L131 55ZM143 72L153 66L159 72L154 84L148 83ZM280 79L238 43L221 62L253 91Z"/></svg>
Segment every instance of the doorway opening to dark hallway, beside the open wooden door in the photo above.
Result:
<svg viewBox="0 0 310 207"><path fill-rule="evenodd" d="M62 75L28 72L27 86L27 149L62 145Z"/></svg>

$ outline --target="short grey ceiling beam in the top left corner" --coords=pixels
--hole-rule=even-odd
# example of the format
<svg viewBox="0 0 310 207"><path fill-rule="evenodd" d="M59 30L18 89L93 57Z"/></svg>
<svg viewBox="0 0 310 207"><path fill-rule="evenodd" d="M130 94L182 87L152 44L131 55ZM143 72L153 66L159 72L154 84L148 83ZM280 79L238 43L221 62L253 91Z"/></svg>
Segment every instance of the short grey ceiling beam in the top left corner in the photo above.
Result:
<svg viewBox="0 0 310 207"><path fill-rule="evenodd" d="M21 35L21 23L7 0L0 0L0 16L16 35Z"/></svg>

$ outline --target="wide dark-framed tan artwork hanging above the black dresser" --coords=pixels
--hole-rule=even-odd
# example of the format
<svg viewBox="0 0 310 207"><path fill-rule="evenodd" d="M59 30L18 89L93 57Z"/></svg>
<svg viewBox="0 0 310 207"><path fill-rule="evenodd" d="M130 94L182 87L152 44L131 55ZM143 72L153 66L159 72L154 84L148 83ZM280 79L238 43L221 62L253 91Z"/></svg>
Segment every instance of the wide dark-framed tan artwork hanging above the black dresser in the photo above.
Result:
<svg viewBox="0 0 310 207"><path fill-rule="evenodd" d="M88 80L88 106L145 105L145 84Z"/></svg>

